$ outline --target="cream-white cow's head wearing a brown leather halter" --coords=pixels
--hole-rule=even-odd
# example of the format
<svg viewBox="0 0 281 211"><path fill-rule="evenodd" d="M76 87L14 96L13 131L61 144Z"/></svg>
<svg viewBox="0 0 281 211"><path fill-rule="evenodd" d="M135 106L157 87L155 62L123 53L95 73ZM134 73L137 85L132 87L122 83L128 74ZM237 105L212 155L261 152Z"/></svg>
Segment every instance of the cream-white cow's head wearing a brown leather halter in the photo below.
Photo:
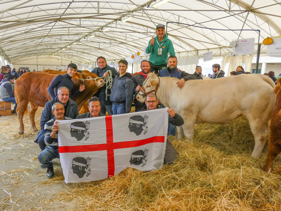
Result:
<svg viewBox="0 0 281 211"><path fill-rule="evenodd" d="M144 88L144 90L142 91L142 89L141 89L139 91L139 93L136 96L136 99L138 101L140 101L141 103L144 103L146 93L154 91L157 88L158 84L159 84L159 77L154 73L149 73L147 78L145 79L145 81L142 84L142 87Z"/></svg>

